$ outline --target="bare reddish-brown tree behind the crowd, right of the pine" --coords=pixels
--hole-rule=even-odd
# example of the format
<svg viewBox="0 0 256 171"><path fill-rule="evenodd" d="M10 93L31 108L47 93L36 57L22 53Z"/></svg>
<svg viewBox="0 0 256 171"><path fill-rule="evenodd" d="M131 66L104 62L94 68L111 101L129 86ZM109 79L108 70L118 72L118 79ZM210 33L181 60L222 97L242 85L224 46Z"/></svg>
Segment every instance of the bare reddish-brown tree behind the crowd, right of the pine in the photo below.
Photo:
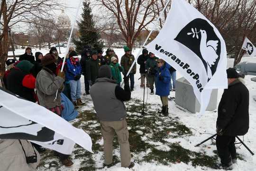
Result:
<svg viewBox="0 0 256 171"><path fill-rule="evenodd" d="M119 32L130 49L141 30L155 20L155 1L157 0L96 0L97 5L101 6L102 18L115 17Z"/></svg>

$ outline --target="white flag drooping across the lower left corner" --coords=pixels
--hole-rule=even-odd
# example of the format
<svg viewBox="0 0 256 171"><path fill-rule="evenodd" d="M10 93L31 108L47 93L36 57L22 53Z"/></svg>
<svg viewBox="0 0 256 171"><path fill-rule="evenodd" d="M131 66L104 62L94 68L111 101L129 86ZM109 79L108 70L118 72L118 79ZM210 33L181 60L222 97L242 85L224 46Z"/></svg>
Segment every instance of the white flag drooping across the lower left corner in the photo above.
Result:
<svg viewBox="0 0 256 171"><path fill-rule="evenodd" d="M0 88L0 139L24 139L63 154L74 144L92 153L91 137L36 103Z"/></svg>

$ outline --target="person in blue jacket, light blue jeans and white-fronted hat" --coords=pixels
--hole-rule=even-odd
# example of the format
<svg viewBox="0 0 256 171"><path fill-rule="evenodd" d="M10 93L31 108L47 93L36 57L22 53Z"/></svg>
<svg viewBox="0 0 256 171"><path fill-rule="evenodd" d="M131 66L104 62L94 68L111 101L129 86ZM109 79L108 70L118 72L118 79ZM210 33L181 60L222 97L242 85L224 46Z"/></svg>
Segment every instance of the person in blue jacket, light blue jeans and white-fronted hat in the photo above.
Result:
<svg viewBox="0 0 256 171"><path fill-rule="evenodd" d="M66 81L69 81L71 99L74 106L83 105L81 100L81 82L80 78L82 75L82 67L79 63L78 55L75 51L69 54L69 58L66 63Z"/></svg>

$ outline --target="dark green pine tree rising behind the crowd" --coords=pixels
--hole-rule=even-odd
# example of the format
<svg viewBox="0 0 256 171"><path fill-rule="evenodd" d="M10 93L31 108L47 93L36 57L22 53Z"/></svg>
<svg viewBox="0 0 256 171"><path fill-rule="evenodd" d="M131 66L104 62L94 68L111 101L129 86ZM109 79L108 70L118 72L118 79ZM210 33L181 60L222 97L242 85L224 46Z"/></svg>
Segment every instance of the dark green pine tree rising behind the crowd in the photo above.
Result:
<svg viewBox="0 0 256 171"><path fill-rule="evenodd" d="M90 45L92 49L98 50L103 48L103 43L99 40L100 33L95 27L93 15L91 14L90 1L83 1L83 12L81 21L77 22L79 27L80 40L74 40L76 51L81 53L85 45Z"/></svg>

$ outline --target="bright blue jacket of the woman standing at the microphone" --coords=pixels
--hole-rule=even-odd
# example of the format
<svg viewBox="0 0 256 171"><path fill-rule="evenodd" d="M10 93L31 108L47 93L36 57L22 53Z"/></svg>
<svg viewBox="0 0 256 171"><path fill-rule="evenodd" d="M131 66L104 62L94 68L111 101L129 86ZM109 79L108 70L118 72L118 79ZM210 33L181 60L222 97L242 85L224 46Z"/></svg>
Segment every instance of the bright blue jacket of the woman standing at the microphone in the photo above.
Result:
<svg viewBox="0 0 256 171"><path fill-rule="evenodd" d="M167 63L166 63L167 64ZM156 95L159 96L169 96L170 95L170 81L171 81L171 74L168 69L168 65L162 66L158 72L156 73L155 77L155 88L156 88ZM164 80L160 81L159 77L163 76Z"/></svg>

